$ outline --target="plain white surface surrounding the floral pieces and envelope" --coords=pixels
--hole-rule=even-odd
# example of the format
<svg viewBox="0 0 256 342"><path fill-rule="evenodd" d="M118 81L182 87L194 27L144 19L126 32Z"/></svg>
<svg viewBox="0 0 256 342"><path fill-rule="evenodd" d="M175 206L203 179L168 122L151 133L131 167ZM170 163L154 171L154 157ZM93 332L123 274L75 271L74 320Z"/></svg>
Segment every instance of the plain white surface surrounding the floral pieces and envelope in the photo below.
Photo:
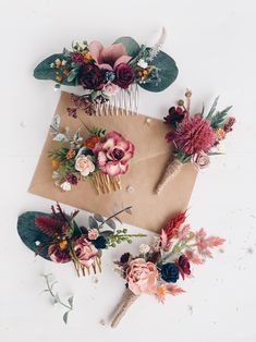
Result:
<svg viewBox="0 0 256 342"><path fill-rule="evenodd" d="M255 1L0 1L0 341L256 341L256 212L255 212ZM50 82L33 78L42 58L70 47L73 39L111 44L130 35L139 42L166 26L164 50L180 68L178 81L166 91L141 93L141 111L162 118L185 87L193 90L193 108L233 105L237 123L223 146L198 175L190 204L194 229L227 239L224 253L197 267L183 288L164 305L144 296L120 327L108 317L119 303L124 282L112 272L122 245L105 253L102 276L77 279L71 265L59 266L33 253L16 233L17 215L51 205L27 193L59 94ZM86 220L85 212L80 221ZM139 231L134 229L134 231ZM41 273L53 273L56 289L75 295L68 326L63 310L52 307ZM105 320L106 325L101 325Z"/></svg>

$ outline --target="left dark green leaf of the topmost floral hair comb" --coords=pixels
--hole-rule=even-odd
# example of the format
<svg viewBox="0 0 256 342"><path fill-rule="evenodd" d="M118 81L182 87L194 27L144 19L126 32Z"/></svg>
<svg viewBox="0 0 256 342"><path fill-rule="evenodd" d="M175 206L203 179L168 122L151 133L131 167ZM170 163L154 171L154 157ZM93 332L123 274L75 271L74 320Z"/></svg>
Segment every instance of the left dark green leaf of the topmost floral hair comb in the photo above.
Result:
<svg viewBox="0 0 256 342"><path fill-rule="evenodd" d="M37 80L51 80L56 82L56 72L59 71L57 68L51 68L50 64L53 63L57 59L66 60L63 53L54 53L41 61L36 69L34 70L34 77ZM75 78L72 82L68 82L66 78L63 78L61 84L75 86Z"/></svg>

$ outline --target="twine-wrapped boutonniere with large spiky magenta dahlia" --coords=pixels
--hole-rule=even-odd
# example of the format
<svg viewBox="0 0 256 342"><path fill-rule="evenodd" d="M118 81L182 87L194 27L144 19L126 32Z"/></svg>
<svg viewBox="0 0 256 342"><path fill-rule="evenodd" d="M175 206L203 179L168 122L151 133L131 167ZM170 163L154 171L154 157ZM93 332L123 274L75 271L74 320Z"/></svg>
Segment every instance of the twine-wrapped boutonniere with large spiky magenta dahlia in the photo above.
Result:
<svg viewBox="0 0 256 342"><path fill-rule="evenodd" d="M191 114L192 93L187 90L185 96L186 106L183 100L179 100L179 106L171 107L169 114L163 118L166 123L172 127L166 139L174 145L175 155L157 184L157 194L169 180L181 171L185 163L192 162L197 170L208 167L209 156L221 155L218 151L219 144L232 131L235 122L233 117L228 117L232 107L216 111L218 98L207 114L204 114L204 107L199 113Z"/></svg>

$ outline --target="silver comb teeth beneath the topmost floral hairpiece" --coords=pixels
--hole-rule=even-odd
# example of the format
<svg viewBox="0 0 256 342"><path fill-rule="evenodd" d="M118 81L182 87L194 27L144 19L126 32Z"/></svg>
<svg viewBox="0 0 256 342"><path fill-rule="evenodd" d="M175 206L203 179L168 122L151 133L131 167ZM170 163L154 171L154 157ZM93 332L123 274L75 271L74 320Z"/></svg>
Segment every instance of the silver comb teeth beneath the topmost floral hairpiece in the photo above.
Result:
<svg viewBox="0 0 256 342"><path fill-rule="evenodd" d="M137 84L131 86L127 90L120 89L117 95L110 98L109 102L96 105L96 115L137 115L138 95Z"/></svg>

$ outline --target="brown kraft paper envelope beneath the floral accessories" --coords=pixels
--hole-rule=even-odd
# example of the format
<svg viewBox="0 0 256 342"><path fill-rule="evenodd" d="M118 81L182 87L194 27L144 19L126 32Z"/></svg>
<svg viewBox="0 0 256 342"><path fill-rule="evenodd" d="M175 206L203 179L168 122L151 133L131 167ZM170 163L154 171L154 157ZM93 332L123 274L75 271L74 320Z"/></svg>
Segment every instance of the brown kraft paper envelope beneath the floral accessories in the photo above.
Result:
<svg viewBox="0 0 256 342"><path fill-rule="evenodd" d="M78 119L66 114L66 107L72 107L70 95L62 93L56 113L61 117L61 127L69 126L73 133L82 125ZM164 139L169 127L161 120L147 120L148 117L141 114L89 117L83 111L78 115L87 126L102 127L107 132L118 131L135 145L135 155L130 161L129 171L121 175L122 191L97 195L93 182L88 180L81 181L71 192L62 192L52 180L48 152L58 143L52 142L49 133L29 186L31 193L102 216L110 216L113 210L131 205L133 213L124 213L121 219L154 232L158 232L170 217L186 209L196 179L196 170L192 164L184 166L160 195L154 194L154 188L172 156L170 145ZM83 126L81 132L85 132Z"/></svg>

